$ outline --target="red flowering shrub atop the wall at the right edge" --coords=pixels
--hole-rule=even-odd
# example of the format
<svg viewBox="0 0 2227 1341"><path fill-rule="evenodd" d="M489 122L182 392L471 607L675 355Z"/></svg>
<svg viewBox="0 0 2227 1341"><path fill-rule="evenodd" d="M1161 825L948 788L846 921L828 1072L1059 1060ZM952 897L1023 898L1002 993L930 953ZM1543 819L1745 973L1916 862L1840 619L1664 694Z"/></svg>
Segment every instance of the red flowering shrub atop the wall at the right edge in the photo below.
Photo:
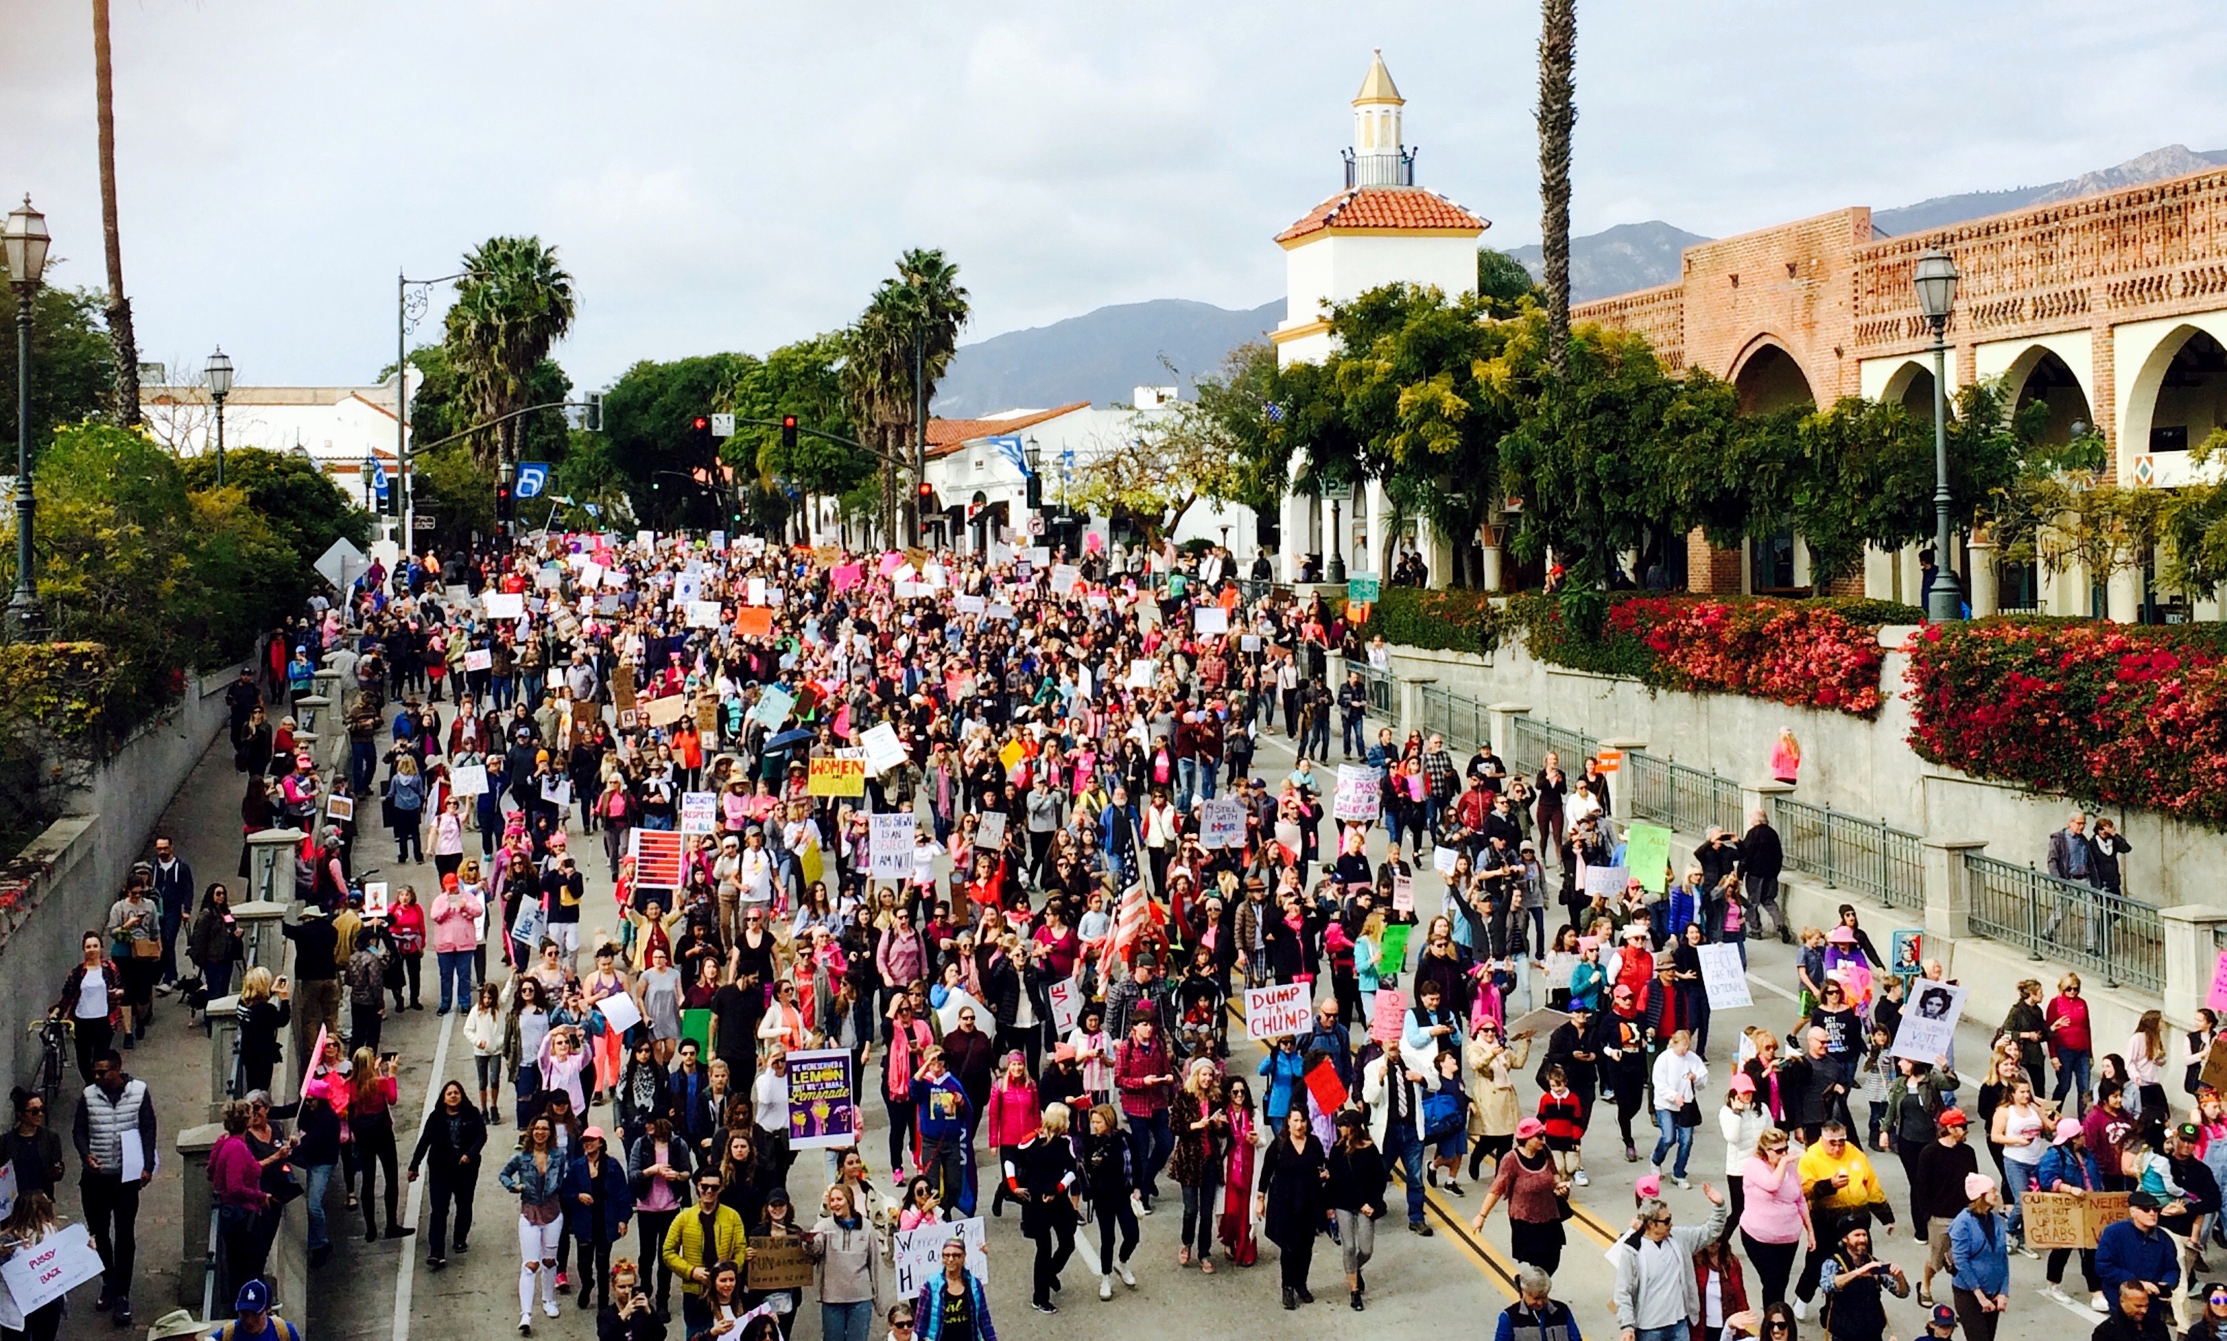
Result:
<svg viewBox="0 0 2227 1341"><path fill-rule="evenodd" d="M2227 628L1984 619L1911 644L1911 748L2227 829Z"/></svg>

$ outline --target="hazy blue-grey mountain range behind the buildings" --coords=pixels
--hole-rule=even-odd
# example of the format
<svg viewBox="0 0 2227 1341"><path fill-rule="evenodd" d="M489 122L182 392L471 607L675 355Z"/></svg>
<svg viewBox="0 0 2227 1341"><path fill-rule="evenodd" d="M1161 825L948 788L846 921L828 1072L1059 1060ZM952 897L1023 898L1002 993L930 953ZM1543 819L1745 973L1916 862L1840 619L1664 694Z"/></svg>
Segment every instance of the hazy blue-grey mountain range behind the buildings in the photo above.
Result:
<svg viewBox="0 0 2227 1341"><path fill-rule="evenodd" d="M2227 165L2227 149L2187 145L2151 149L2098 172L2038 187L1935 196L1871 214L1873 232L1897 236L1984 218L2027 205L2071 200L2122 187ZM1664 221L1621 223L1570 238L1570 298L1590 303L1679 276L1679 254L1706 243ZM1508 252L1537 278L1539 245ZM1283 321L1283 298L1252 310L1216 307L1189 298L1118 303L1031 330L1013 330L960 345L935 390L935 412L967 419L1022 405L1060 405L1089 397L1098 405L1127 403L1138 385L1180 385L1214 372L1229 350L1260 339Z"/></svg>

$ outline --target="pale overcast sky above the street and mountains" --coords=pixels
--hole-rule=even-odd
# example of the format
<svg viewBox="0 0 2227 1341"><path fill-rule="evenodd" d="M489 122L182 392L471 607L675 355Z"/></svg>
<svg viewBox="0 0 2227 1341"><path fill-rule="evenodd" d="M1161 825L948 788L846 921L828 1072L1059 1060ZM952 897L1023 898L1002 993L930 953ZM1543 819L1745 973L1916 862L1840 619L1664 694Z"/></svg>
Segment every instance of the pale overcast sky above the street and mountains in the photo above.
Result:
<svg viewBox="0 0 2227 1341"><path fill-rule="evenodd" d="M0 196L100 285L87 0L13 0ZM577 281L559 359L766 348L944 247L964 339L1102 303L1283 292L1383 47L1419 183L1537 241L1537 4L1285 0L114 0L140 354L370 379L394 274L532 232ZM2214 4L1586 0L1574 232L1721 236L2227 147ZM421 334L436 334L439 305Z"/></svg>

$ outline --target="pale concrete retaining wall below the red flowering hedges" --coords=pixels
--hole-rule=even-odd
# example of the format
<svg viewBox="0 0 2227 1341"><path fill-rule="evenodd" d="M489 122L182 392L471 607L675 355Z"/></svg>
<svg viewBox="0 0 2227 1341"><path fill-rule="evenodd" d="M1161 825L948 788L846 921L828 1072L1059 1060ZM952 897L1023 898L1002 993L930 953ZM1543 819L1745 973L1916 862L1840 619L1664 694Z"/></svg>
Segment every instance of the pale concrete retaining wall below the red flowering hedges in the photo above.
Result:
<svg viewBox="0 0 2227 1341"><path fill-rule="evenodd" d="M1811 806L1833 806L1897 829L1942 838L1986 840L1986 855L2042 864L2049 833L2064 826L2071 802L2002 782L1969 777L1917 757L1909 746L1911 704L1895 693L1877 720L1822 708L1793 708L1728 693L1650 691L1637 679L1566 671L1532 659L1521 646L1490 657L1392 650L1403 677L1436 677L1441 688L1485 704L1521 702L1557 726L1597 740L1646 740L1648 753L1708 769L1737 782L1768 780L1770 742L1793 726L1802 742L1802 777L1793 793ZM1909 657L1888 653L1882 686L1904 688ZM2125 858L2127 893L2158 907L2216 902L2227 869L2227 835L2156 811L2107 806L2133 851Z"/></svg>

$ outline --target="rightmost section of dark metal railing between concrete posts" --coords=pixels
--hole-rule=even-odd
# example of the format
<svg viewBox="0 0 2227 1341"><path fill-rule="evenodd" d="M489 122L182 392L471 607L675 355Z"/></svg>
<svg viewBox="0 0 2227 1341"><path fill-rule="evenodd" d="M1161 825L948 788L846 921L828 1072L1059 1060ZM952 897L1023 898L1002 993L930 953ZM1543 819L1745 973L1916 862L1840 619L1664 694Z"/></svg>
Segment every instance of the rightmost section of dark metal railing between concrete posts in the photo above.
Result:
<svg viewBox="0 0 2227 1341"><path fill-rule="evenodd" d="M2158 909L1980 853L1964 853L1964 882L1973 933L2098 973L2107 987L2165 991Z"/></svg>

